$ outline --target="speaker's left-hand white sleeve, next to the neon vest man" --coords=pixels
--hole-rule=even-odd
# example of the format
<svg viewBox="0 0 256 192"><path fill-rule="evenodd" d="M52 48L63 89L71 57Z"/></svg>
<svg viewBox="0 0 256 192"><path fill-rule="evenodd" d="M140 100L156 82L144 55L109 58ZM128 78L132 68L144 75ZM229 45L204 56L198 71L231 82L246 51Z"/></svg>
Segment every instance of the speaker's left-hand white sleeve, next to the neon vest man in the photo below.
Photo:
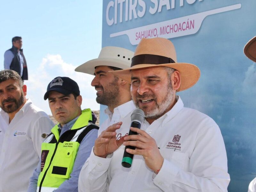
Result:
<svg viewBox="0 0 256 192"><path fill-rule="evenodd" d="M107 192L108 191L108 167L113 154L107 158L95 156L93 149L90 157L81 169L78 179L79 192Z"/></svg>

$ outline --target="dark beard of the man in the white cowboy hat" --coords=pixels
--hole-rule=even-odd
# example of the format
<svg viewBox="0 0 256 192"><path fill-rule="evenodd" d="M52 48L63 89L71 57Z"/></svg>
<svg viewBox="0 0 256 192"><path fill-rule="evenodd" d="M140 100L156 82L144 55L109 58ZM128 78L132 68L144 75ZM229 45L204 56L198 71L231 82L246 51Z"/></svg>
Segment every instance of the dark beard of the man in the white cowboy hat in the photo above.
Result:
<svg viewBox="0 0 256 192"><path fill-rule="evenodd" d="M96 97L96 102L102 105L115 106L120 100L120 91L117 84L118 78L108 84L108 90L103 89L103 94Z"/></svg>

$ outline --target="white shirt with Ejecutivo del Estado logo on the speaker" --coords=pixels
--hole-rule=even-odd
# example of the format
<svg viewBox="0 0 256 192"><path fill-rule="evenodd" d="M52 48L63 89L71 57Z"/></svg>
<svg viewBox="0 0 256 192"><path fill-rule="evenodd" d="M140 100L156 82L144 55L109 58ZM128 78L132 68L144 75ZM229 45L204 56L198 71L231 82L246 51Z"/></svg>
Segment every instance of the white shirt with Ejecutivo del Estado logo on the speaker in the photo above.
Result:
<svg viewBox="0 0 256 192"><path fill-rule="evenodd" d="M125 134L129 126L118 132ZM92 151L80 172L78 191L227 191L230 178L225 145L210 117L184 108L179 98L164 116L152 124L144 121L141 129L156 140L164 157L157 175L140 155L134 155L131 168L123 167L124 146L107 158Z"/></svg>

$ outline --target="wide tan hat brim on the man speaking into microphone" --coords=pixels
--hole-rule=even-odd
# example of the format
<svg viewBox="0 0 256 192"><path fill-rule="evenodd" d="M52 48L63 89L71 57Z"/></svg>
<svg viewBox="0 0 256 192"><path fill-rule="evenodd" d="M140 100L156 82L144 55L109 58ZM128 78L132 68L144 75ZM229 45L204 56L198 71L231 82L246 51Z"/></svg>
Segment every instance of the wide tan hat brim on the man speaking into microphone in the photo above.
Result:
<svg viewBox="0 0 256 192"><path fill-rule="evenodd" d="M154 68L154 67L160 67L160 66L174 68L180 72L181 84L177 92L183 91L192 87L194 84L196 84L196 82L199 80L199 77L200 77L199 68L196 65L193 65L190 63L166 63L166 64L160 64L160 65L139 64L128 69L109 71L109 72L131 83L131 70L140 69L140 68Z"/></svg>

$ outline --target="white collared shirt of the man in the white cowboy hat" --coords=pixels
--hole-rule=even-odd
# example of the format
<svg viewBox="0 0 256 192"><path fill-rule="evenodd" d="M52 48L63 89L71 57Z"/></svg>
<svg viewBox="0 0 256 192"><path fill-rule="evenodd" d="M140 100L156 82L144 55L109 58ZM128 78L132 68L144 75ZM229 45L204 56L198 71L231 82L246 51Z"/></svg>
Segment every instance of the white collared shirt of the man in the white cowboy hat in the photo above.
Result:
<svg viewBox="0 0 256 192"><path fill-rule="evenodd" d="M100 124L100 129L98 132L98 136L100 133L108 128L108 126L113 125L114 123L117 123L122 120L123 125L130 126L131 124L131 114L133 110L136 109L133 101L128 101L122 105L119 105L118 107L114 108L114 113L112 113L108 108L105 109L104 113L108 116L108 118ZM129 130L128 130L129 132ZM124 135L122 135L123 137ZM117 138L120 138L121 135L117 134Z"/></svg>

